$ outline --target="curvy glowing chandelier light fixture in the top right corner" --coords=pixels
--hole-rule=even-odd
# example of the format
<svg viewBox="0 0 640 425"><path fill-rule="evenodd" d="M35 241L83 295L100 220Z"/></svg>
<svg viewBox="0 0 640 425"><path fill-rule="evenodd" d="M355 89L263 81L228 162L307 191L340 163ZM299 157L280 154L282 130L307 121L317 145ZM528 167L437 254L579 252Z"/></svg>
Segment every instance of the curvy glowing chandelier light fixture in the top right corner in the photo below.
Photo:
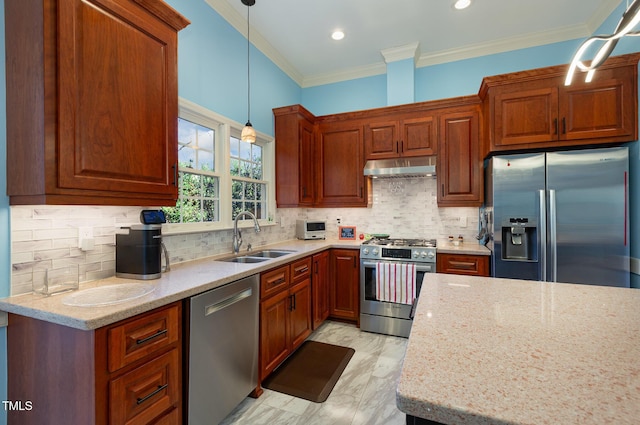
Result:
<svg viewBox="0 0 640 425"><path fill-rule="evenodd" d="M571 85L571 81L573 80L573 75L575 74L576 69L580 69L582 72L586 72L587 76L585 78L585 82L591 82L596 69L598 69L598 67L607 60L611 52L613 52L613 49L616 47L616 44L618 44L618 40L620 40L625 35L640 35L640 32L631 32L631 30L638 24L638 22L640 22L640 0L633 0L631 5L628 6L627 10L622 14L622 18L620 19L620 22L618 22L618 26L616 27L613 34L608 36L596 35L586 39L580 45L580 48L571 61L571 65L569 65L569 71L567 72L567 77L564 81L565 86ZM600 50L598 50L591 63L589 65L585 65L582 62L582 57L585 55L587 49L589 49L589 47L591 47L591 45L596 41L604 41L604 45L600 48Z"/></svg>

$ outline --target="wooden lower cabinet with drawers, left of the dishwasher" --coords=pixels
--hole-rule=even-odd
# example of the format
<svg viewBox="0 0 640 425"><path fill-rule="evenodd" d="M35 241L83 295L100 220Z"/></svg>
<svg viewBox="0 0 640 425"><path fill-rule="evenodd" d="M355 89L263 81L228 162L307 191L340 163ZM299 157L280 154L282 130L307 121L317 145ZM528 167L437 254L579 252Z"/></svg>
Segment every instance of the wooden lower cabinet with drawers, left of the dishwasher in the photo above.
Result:
<svg viewBox="0 0 640 425"><path fill-rule="evenodd" d="M180 302L93 331L10 314L8 399L32 408L9 423L181 423L181 328Z"/></svg>

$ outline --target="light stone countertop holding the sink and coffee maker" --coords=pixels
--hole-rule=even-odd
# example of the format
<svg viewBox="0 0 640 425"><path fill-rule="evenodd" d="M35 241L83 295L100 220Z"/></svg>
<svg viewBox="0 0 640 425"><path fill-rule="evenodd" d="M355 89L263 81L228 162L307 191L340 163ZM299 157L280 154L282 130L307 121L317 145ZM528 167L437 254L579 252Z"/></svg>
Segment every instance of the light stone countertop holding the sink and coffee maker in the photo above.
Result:
<svg viewBox="0 0 640 425"><path fill-rule="evenodd" d="M80 290L132 281L151 283L155 286L154 291L149 295L119 304L102 307L74 307L67 306L62 302L63 298L70 294L69 292L50 297L25 294L0 299L0 311L20 314L77 329L97 329L328 248L357 249L360 247L360 243L360 241L341 240L287 241L254 248L254 251L262 249L296 251L294 254L261 263L242 264L216 261L216 259L228 257L231 254L229 253L223 256L172 265L171 271L163 273L160 279L133 280L112 277L80 285ZM244 253L244 251L241 252L241 254Z"/></svg>

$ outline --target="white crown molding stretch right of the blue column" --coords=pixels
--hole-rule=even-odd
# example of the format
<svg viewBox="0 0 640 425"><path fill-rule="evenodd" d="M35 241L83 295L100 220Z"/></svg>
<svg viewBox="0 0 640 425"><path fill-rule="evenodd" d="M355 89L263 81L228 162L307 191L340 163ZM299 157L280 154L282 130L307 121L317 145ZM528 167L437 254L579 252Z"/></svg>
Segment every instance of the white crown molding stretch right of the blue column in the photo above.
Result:
<svg viewBox="0 0 640 425"><path fill-rule="evenodd" d="M439 52L423 54L418 59L417 67L439 65L480 56L504 53L529 47L543 46L576 38L590 36L586 25L565 27L555 31L543 31L536 34L527 34L521 37L509 37L490 43L469 44L459 49L442 50ZM570 60L571 58L567 58Z"/></svg>

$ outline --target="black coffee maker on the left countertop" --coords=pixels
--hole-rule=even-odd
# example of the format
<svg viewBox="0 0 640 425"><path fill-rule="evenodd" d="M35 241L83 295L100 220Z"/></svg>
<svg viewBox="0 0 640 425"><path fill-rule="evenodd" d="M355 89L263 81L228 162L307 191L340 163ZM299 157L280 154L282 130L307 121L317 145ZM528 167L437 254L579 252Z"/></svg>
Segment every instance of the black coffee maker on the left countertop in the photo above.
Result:
<svg viewBox="0 0 640 425"><path fill-rule="evenodd" d="M169 270L169 256L162 243L162 223L166 219L161 210L144 210L140 221L142 224L121 228L127 233L116 234L116 277L159 279L163 271Z"/></svg>

